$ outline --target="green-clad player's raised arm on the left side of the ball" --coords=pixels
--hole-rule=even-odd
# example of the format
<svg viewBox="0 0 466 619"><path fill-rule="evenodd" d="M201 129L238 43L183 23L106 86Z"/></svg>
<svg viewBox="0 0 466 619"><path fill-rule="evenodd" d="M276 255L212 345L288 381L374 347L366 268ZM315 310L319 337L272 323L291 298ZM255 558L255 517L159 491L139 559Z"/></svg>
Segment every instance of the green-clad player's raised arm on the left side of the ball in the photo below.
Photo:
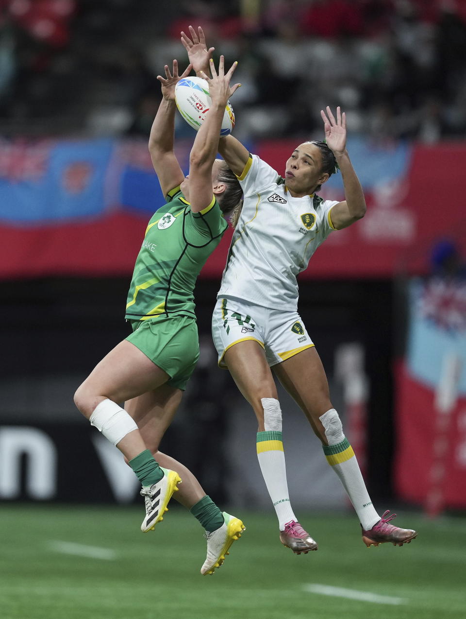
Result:
<svg viewBox="0 0 466 619"><path fill-rule="evenodd" d="M162 85L163 99L157 110L149 137L149 152L164 196L184 180L184 174L174 153L175 131L175 85L189 75L189 65L182 76L178 75L178 63L173 61L173 75L165 65L165 76L157 76Z"/></svg>

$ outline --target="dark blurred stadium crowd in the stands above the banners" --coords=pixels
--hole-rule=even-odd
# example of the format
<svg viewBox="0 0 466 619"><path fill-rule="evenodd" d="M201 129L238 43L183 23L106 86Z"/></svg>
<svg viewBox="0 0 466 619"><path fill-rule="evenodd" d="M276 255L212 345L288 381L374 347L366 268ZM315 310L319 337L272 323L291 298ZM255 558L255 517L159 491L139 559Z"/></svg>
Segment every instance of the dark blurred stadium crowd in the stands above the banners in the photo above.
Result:
<svg viewBox="0 0 466 619"><path fill-rule="evenodd" d="M320 134L325 105L377 141L466 136L464 0L0 0L0 131L147 136L189 24L239 61L242 139Z"/></svg>

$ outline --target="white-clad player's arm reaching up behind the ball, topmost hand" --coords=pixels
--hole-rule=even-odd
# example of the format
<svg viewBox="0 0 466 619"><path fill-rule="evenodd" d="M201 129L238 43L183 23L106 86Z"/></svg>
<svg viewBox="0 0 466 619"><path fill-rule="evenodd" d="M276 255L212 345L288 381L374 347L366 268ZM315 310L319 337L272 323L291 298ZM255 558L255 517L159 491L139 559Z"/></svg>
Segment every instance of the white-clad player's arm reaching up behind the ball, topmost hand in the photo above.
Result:
<svg viewBox="0 0 466 619"><path fill-rule="evenodd" d="M204 31L199 26L197 32L192 26L189 27L189 35L181 32L181 42L188 53L189 62L192 64L198 77L209 74L209 63L215 48L208 48ZM221 137L218 152L222 155L227 166L240 176L248 162L249 151L233 136Z"/></svg>

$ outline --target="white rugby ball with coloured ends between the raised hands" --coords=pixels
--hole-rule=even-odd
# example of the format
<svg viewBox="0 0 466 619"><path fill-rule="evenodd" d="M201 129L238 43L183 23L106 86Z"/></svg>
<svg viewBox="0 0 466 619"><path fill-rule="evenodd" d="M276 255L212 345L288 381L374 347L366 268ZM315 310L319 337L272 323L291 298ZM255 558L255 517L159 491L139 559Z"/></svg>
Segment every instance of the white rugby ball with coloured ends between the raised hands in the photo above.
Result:
<svg viewBox="0 0 466 619"><path fill-rule="evenodd" d="M209 85L201 77L183 77L175 86L176 106L185 119L196 131L205 121L211 106ZM228 136L235 126L235 115L230 102L227 102L223 115L221 136Z"/></svg>

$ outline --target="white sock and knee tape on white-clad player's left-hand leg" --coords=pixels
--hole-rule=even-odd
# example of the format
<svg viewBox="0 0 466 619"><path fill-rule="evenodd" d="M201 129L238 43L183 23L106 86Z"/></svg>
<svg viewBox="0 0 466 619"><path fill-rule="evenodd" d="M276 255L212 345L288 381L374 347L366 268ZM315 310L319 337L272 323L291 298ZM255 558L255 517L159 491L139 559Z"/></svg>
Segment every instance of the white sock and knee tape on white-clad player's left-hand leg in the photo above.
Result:
<svg viewBox="0 0 466 619"><path fill-rule="evenodd" d="M265 431L258 432L256 436L257 459L282 531L287 522L297 521L297 517L291 508L286 480L281 409L278 400L274 398L263 398L261 402L264 407Z"/></svg>

